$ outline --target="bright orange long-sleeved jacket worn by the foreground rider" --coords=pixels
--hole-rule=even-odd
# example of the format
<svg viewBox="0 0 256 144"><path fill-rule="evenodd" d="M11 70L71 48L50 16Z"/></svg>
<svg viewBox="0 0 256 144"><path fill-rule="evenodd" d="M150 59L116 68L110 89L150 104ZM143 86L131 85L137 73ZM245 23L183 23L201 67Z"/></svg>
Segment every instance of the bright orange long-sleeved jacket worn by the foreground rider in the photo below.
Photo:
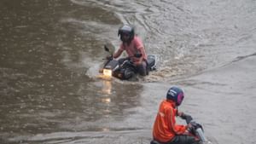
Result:
<svg viewBox="0 0 256 144"><path fill-rule="evenodd" d="M171 141L175 135L182 135L187 126L176 124L174 101L165 100L160 103L159 112L154 121L153 137L159 142Z"/></svg>

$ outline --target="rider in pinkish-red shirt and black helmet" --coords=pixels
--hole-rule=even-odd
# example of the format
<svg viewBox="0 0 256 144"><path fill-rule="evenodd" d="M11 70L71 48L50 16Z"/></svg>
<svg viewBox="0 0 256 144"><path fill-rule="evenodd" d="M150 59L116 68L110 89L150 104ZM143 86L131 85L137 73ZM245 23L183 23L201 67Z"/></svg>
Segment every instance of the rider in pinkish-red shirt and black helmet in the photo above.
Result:
<svg viewBox="0 0 256 144"><path fill-rule="evenodd" d="M113 58L118 58L125 50L135 64L137 72L142 76L147 75L147 55L142 40L135 35L134 28L128 25L121 26L119 28L118 36L122 43L120 44L118 51L113 54ZM136 54L141 54L142 56L135 57L134 55ZM120 63L122 60L124 59L119 60Z"/></svg>

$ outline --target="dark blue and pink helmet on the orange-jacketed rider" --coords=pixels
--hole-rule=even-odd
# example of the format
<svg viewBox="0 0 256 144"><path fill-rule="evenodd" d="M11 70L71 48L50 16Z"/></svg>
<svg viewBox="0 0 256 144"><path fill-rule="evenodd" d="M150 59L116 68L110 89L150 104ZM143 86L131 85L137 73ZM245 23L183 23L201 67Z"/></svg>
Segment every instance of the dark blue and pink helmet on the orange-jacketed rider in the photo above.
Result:
<svg viewBox="0 0 256 144"><path fill-rule="evenodd" d="M179 106L183 102L183 98L183 89L174 86L167 91L166 99L175 101L177 106Z"/></svg>

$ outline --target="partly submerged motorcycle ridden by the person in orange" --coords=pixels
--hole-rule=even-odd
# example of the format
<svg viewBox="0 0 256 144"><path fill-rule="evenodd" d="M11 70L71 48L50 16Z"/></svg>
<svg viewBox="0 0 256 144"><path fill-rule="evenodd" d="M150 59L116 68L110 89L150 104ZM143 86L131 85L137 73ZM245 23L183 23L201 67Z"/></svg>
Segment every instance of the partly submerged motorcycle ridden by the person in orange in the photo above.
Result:
<svg viewBox="0 0 256 144"><path fill-rule="evenodd" d="M195 120L186 114L183 114L181 118L186 120L187 124L190 124L189 135L195 138L195 141L199 141L200 144L211 144L210 141L207 141L206 136L204 135L204 130L201 124L195 122ZM159 141L152 140L150 144L162 144Z"/></svg>

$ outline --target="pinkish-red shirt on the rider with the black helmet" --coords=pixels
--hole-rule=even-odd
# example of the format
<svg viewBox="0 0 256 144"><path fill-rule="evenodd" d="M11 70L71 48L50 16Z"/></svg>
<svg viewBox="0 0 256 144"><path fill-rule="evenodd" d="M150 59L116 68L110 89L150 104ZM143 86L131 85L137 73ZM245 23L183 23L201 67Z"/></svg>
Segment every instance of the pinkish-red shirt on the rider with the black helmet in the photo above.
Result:
<svg viewBox="0 0 256 144"><path fill-rule="evenodd" d="M124 50L126 51L128 56L134 56L137 53L142 54L143 60L147 60L147 55L143 46L142 40L134 36L134 38L131 40L131 43L128 45L127 43L121 43L119 47L120 53L122 53ZM140 60L140 58L132 57L131 60L134 62L137 62Z"/></svg>

